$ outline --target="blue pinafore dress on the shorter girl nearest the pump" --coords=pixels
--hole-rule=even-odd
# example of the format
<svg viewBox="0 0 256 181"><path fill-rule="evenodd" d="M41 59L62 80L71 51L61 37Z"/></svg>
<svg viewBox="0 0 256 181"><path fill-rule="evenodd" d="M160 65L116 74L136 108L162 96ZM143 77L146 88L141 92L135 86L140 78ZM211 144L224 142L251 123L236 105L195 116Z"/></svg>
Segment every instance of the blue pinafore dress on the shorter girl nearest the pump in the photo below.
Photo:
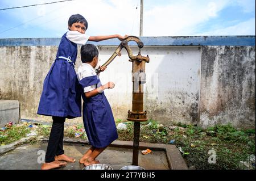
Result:
<svg viewBox="0 0 256 181"><path fill-rule="evenodd" d="M101 86L97 75L85 77L79 81L79 84L81 90L91 85ZM105 148L118 138L110 104L104 92L91 98L86 98L82 93L82 99L84 100L82 104L82 119L90 145L95 148Z"/></svg>

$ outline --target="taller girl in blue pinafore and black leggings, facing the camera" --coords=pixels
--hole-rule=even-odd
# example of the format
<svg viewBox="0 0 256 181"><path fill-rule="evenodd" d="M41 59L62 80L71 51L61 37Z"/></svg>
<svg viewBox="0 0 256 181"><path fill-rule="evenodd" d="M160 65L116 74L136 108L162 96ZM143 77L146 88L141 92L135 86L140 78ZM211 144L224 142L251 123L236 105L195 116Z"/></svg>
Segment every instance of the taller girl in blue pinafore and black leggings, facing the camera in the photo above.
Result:
<svg viewBox="0 0 256 181"><path fill-rule="evenodd" d="M86 19L80 14L72 15L68 20L68 29L60 40L56 59L53 62L43 84L43 91L39 102L38 114L52 116L52 129L49 136L46 163L41 169L55 169L65 166L66 162L75 162L75 159L64 154L63 137L65 119L81 116L81 92L75 71L77 44L85 45L87 41L101 41L120 35L88 36ZM104 70L101 68L101 70Z"/></svg>

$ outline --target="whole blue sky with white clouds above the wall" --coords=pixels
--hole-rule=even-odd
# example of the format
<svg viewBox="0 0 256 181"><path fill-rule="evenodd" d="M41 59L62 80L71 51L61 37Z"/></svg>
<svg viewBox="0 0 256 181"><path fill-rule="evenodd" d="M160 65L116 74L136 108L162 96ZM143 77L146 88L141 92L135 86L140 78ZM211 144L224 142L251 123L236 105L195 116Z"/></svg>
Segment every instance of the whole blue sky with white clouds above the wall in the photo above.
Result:
<svg viewBox="0 0 256 181"><path fill-rule="evenodd" d="M0 0L0 9L60 0ZM75 0L0 11L0 39L61 37L81 14L86 34L139 36L141 0ZM255 0L144 0L143 36L255 35Z"/></svg>

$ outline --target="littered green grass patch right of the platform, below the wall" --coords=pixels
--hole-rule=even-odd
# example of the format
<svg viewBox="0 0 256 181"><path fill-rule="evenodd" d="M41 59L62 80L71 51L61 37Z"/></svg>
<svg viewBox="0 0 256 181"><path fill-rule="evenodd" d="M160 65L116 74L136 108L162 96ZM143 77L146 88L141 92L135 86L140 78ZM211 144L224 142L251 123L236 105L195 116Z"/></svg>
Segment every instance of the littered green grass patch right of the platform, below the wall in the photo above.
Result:
<svg viewBox="0 0 256 181"><path fill-rule="evenodd" d="M242 169L240 161L246 161L250 154L255 155L253 129L238 131L228 124L216 125L203 131L200 127L179 123L177 125L180 128L171 130L164 127L163 131L159 132L157 121L150 120L142 125L148 123L152 124L141 128L141 142L170 144L171 140L175 140L177 148L181 147L186 153L183 157L188 166L195 169ZM133 141L133 123L128 123L126 130L118 130L118 136L118 140ZM211 149L216 151L216 164L208 163L208 151Z"/></svg>

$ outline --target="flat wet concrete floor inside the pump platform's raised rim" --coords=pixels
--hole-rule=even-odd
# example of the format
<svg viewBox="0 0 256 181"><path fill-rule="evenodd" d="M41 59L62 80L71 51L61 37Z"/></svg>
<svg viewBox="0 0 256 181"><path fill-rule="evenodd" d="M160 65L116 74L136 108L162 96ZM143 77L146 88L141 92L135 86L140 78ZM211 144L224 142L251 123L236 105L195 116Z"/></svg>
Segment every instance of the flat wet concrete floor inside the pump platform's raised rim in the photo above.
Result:
<svg viewBox="0 0 256 181"><path fill-rule="evenodd" d="M67 166L60 168L63 170L81 170L84 168L79 163L90 145L64 143L65 154L76 159L75 163L67 163ZM38 170L40 169L44 151L47 149L47 142L39 144L24 144L16 149L0 156L0 169L6 170ZM43 151L44 150L44 151ZM154 151L150 154L141 154L139 150L138 165L146 170L167 170L170 169L167 162L165 151ZM114 170L119 170L123 166L131 165L133 150L127 148L108 147L98 157L101 163L110 165Z"/></svg>

